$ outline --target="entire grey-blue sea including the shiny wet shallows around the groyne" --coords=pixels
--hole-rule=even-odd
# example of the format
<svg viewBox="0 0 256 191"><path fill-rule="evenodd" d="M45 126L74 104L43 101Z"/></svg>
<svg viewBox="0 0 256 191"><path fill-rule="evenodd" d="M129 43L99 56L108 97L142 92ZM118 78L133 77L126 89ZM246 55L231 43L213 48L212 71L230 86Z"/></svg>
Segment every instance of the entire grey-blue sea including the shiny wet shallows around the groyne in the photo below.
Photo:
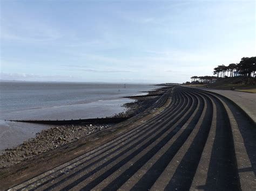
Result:
<svg viewBox="0 0 256 191"><path fill-rule="evenodd" d="M69 120L106 117L126 110L126 96L145 95L151 84L0 82L0 154L51 125L9 120Z"/></svg>

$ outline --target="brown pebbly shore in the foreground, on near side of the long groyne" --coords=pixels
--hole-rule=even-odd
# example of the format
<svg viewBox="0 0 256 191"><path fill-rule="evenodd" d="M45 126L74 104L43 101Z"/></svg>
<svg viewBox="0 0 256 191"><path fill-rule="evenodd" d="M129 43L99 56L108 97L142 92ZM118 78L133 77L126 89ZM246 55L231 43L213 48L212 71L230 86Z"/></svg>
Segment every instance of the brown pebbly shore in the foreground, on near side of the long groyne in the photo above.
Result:
<svg viewBox="0 0 256 191"><path fill-rule="evenodd" d="M0 168L17 164L35 155L47 152L56 147L69 144L79 138L91 133L109 128L110 125L62 125L37 133L35 138L31 138L15 148L6 149L0 155Z"/></svg>

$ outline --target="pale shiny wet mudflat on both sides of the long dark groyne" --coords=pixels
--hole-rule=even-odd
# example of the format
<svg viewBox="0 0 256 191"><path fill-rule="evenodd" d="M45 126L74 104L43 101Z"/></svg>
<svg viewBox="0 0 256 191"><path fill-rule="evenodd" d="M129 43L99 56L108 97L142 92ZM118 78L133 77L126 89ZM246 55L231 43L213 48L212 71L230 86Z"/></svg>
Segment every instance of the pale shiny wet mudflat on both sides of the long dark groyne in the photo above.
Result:
<svg viewBox="0 0 256 191"><path fill-rule="evenodd" d="M30 109L25 111L12 112L1 116L6 119L86 119L97 117L109 117L125 112L123 104L134 100L110 100L98 101L87 104L67 105L55 108ZM100 111L100 112L99 112ZM36 133L50 129L51 125L8 122L0 119L0 154L5 148L15 147L22 144L24 140L35 138Z"/></svg>

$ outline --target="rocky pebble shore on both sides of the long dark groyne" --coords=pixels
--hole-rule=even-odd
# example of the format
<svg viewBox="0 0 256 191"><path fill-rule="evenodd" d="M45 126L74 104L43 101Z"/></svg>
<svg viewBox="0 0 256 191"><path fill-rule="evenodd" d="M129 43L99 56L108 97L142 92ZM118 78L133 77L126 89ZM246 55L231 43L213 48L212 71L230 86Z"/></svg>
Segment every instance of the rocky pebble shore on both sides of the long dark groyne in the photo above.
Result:
<svg viewBox="0 0 256 191"><path fill-rule="evenodd" d="M126 103L123 107L125 112L111 117L133 117L145 109L149 108L159 97L146 98ZM31 138L15 148L7 148L0 155L0 169L12 166L23 160L35 157L38 154L48 152L56 147L75 142L91 133L109 128L112 124L87 124L87 125L60 125L51 129L37 133L35 138Z"/></svg>

